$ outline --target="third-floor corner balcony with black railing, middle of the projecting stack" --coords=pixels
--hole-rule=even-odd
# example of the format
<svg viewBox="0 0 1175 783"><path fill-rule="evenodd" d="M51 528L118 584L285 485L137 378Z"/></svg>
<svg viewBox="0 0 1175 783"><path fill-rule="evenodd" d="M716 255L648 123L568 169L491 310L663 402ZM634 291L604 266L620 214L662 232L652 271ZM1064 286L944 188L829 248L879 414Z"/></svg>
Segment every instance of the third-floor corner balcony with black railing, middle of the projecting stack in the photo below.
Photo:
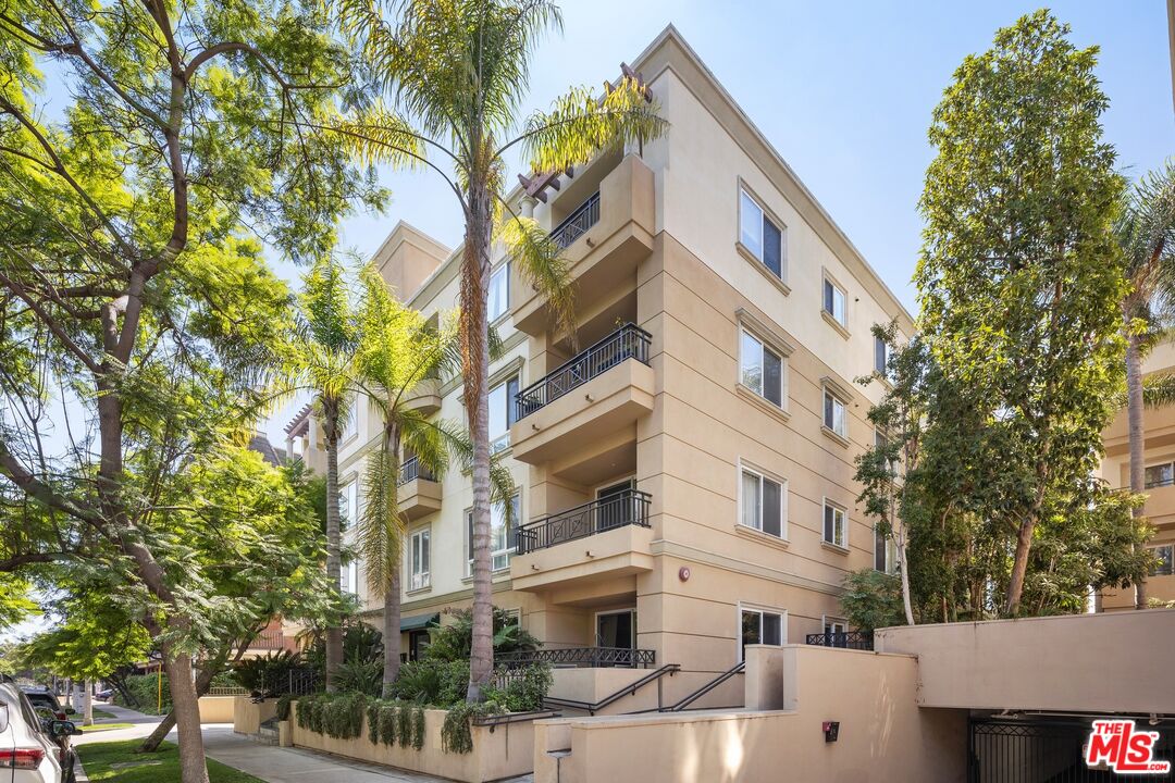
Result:
<svg viewBox="0 0 1175 783"><path fill-rule="evenodd" d="M563 459L551 465L553 474L589 484L591 477L576 471L592 450L653 409L650 342L649 332L625 324L518 392L513 458L532 465Z"/></svg>

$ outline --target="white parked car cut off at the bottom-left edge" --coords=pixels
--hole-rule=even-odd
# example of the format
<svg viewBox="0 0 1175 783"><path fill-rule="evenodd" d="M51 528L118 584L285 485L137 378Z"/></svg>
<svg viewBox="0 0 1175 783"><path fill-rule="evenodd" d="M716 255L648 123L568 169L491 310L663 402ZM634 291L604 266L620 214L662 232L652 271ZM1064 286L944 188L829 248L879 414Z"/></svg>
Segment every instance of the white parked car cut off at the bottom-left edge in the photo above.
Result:
<svg viewBox="0 0 1175 783"><path fill-rule="evenodd" d="M73 749L58 738L75 734L69 721L42 722L28 696L0 683L0 783L73 783Z"/></svg>

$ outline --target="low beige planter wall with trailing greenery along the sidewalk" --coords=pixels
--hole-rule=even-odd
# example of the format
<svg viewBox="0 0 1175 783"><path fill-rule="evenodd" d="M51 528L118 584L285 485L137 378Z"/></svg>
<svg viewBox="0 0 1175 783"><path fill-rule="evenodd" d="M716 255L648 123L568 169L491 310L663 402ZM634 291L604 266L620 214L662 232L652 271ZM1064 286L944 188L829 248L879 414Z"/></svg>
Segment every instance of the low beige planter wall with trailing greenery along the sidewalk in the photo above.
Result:
<svg viewBox="0 0 1175 783"><path fill-rule="evenodd" d="M414 772L448 777L466 783L486 783L517 775L526 775L535 764L535 723L532 721L497 727L472 727L474 749L468 754L445 752L441 749L441 728L448 713L442 709L424 710L424 748L401 748L374 743L368 740L367 715L363 729L355 740L335 740L309 731L297 724L297 702L291 704L290 733L294 745L309 748L374 764L387 764Z"/></svg>

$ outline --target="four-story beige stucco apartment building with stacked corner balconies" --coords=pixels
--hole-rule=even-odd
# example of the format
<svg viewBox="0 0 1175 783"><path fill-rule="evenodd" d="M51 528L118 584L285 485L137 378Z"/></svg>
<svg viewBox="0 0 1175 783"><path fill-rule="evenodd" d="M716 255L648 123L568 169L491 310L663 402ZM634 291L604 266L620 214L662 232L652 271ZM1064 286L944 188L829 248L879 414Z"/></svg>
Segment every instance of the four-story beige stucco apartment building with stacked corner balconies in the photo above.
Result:
<svg viewBox="0 0 1175 783"><path fill-rule="evenodd" d="M680 664L673 697L732 668L744 644L845 630L845 574L892 568L853 481L882 390L854 379L885 359L874 324L913 324L672 27L633 70L667 134L509 196L566 247L579 350L497 249L490 312L505 351L490 369L490 433L522 525L508 531L494 511L494 589L568 662ZM400 223L376 261L427 317L456 308L459 252ZM461 378L418 404L463 421ZM348 518L377 432L368 405L355 411L340 447ZM303 439L289 453L322 463L309 411L288 432ZM429 621L471 601L472 499L457 467L436 481L409 461L403 479L415 656ZM343 587L365 596L362 563ZM367 603L377 622L381 603ZM741 687L710 698L740 701Z"/></svg>

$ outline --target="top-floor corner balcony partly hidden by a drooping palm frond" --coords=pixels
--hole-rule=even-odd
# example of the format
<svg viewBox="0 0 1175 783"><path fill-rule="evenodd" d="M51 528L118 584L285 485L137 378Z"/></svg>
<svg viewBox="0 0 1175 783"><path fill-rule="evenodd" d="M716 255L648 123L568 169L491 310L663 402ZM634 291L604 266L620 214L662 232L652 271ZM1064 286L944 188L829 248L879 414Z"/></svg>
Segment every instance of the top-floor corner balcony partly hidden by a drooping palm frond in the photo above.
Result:
<svg viewBox="0 0 1175 783"><path fill-rule="evenodd" d="M597 161L597 164L605 162ZM590 173L591 168L584 177ZM637 266L653 248L652 170L639 157L629 155L599 181L598 189L583 194L570 188L563 196L568 197L583 201L552 229L551 238L564 249L576 286L577 306L590 309L593 303L613 295L626 279L634 290ZM556 202L556 208L560 202ZM521 281L510 289L515 329L531 336L545 332L550 326L546 298Z"/></svg>

